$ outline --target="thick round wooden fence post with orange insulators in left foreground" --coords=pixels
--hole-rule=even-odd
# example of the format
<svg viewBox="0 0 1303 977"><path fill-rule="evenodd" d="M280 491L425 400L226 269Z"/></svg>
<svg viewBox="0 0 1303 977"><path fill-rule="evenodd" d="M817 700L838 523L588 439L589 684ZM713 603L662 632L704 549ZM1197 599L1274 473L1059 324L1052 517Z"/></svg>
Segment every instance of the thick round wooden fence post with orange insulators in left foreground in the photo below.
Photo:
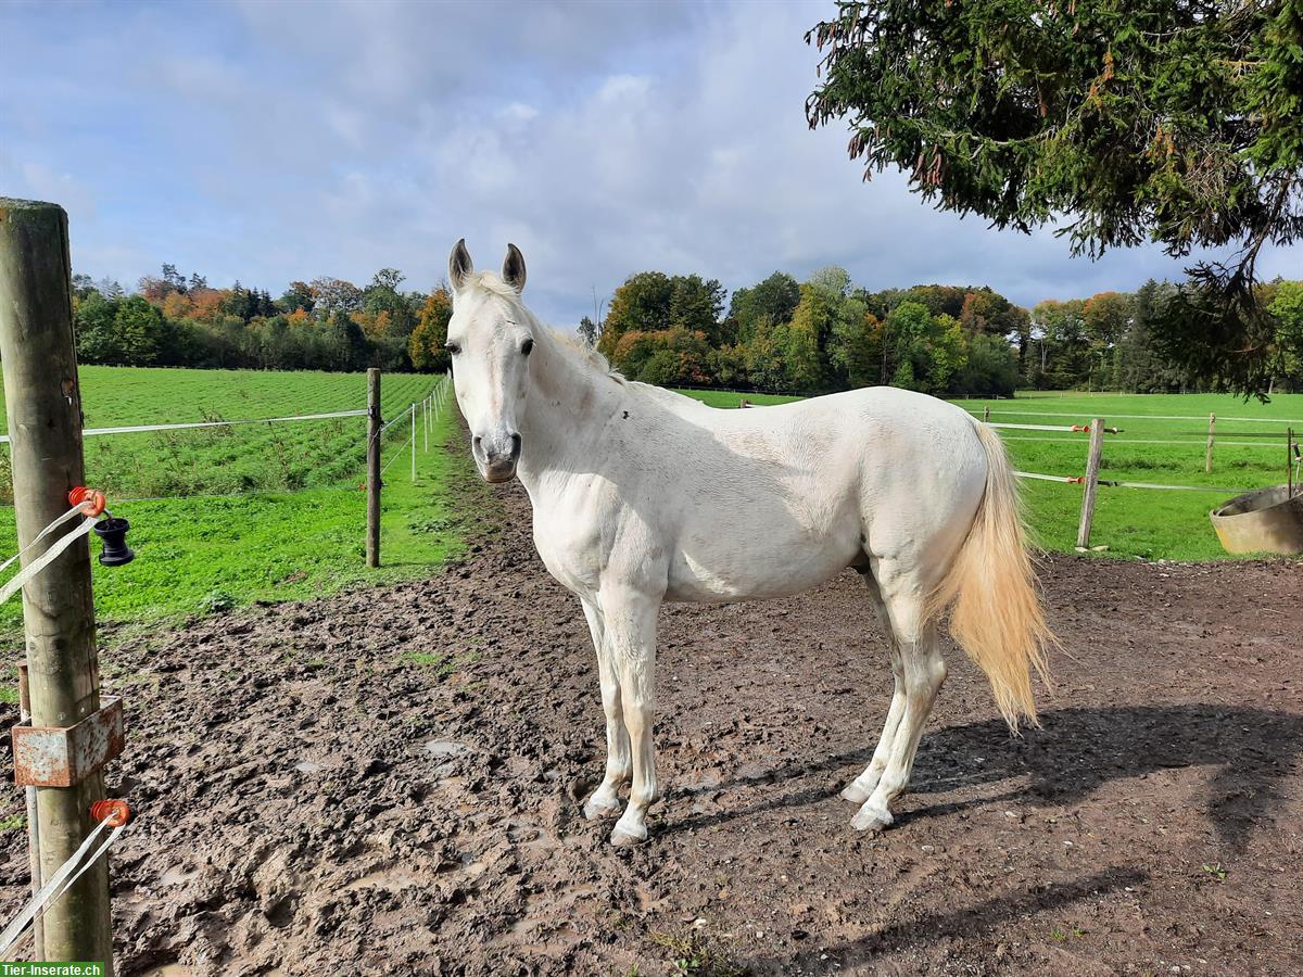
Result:
<svg viewBox="0 0 1303 977"><path fill-rule="evenodd" d="M0 361L21 548L68 511L69 490L85 481L68 215L53 203L0 198ZM36 548L25 564L44 551ZM22 616L33 724L66 727L99 711L85 539L23 588ZM72 787L36 788L43 878L90 834L90 805L103 797L99 771ZM112 973L108 860L51 904L43 924L46 959L102 961Z"/></svg>

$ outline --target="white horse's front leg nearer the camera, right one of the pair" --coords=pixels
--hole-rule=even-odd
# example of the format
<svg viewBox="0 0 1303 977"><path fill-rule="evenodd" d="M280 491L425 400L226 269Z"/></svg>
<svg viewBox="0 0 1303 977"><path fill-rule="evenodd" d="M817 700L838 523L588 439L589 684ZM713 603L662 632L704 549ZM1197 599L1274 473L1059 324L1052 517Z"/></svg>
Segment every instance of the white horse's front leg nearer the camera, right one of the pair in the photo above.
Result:
<svg viewBox="0 0 1303 977"><path fill-rule="evenodd" d="M633 786L629 805L611 831L611 844L645 842L648 808L659 799L655 779L655 745L652 723L655 716L655 625L661 597L603 589L602 617L606 645L620 685L620 707L628 731L633 759Z"/></svg>

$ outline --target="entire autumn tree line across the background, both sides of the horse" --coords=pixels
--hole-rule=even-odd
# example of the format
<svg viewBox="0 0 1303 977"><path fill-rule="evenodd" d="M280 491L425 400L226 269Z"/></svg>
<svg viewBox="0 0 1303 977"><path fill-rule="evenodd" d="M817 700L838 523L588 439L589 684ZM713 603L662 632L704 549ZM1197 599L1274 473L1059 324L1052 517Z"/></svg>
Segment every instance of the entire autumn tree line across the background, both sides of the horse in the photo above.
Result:
<svg viewBox="0 0 1303 977"><path fill-rule="evenodd" d="M442 371L452 298L404 290L382 268L365 287L331 277L212 288L164 264L134 293L73 279L82 362L266 370ZM1303 281L1259 287L1278 347L1274 388L1303 389ZM1218 388L1191 375L1160 328L1177 287L1046 300L1023 309L989 287L870 292L838 267L797 281L775 271L731 296L714 279L644 271L580 333L624 376L667 387L826 393L890 384L938 396L1015 388L1171 392Z"/></svg>

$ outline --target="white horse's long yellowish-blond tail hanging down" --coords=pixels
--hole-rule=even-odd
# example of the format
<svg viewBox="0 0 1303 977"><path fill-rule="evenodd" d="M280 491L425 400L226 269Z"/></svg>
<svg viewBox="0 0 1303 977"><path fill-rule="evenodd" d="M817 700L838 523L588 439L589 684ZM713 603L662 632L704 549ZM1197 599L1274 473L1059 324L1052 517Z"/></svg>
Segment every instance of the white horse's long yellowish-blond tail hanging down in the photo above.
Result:
<svg viewBox="0 0 1303 977"><path fill-rule="evenodd" d="M1005 444L986 425L976 429L986 452L986 491L968 538L928 602L928 617L952 604L950 633L986 672L995 705L1016 733L1020 716L1038 726L1032 670L1049 684L1045 653L1058 640L1041 611Z"/></svg>

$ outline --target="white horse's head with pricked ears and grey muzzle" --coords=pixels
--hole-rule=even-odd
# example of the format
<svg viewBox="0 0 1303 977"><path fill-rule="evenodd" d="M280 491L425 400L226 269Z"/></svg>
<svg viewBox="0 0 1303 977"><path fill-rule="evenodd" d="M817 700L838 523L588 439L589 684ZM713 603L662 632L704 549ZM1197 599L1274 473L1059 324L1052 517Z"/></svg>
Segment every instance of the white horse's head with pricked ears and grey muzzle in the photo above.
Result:
<svg viewBox="0 0 1303 977"><path fill-rule="evenodd" d="M448 255L452 320L447 349L457 406L470 427L470 453L486 482L509 482L520 460L516 425L529 392L533 317L520 304L525 258L507 245L502 277L477 275L465 240Z"/></svg>

